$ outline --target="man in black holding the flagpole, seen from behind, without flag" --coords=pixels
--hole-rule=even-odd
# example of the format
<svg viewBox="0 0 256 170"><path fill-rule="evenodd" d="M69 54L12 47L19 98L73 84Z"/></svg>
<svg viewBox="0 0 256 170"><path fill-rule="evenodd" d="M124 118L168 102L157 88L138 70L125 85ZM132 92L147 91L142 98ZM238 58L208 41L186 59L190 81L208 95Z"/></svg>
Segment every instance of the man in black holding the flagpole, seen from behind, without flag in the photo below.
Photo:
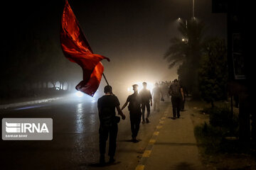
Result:
<svg viewBox="0 0 256 170"><path fill-rule="evenodd" d="M117 108L118 114L122 116L122 119L125 119L125 115L120 109L120 103L117 96L112 94L112 87L105 86L104 92L105 96L102 96L97 101L100 118L100 164L105 164L106 142L109 135L110 147L108 155L110 156L110 162L114 162L114 153L117 147L117 123L119 122L119 117L116 116L115 108Z"/></svg>

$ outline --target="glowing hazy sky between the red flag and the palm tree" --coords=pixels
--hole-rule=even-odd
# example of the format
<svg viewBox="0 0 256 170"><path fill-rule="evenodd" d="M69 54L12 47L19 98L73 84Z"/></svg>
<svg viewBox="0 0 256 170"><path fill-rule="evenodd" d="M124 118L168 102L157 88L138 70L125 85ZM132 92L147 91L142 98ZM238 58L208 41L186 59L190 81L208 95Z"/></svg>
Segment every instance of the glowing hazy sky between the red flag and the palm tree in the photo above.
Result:
<svg viewBox="0 0 256 170"><path fill-rule="evenodd" d="M111 62L102 62L110 83L177 78L176 68L169 69L163 56L178 34L176 19L191 18L192 1L70 1L70 6L92 50L110 57ZM225 38L225 14L211 13L211 1L196 1L195 6L206 33L214 30Z"/></svg>

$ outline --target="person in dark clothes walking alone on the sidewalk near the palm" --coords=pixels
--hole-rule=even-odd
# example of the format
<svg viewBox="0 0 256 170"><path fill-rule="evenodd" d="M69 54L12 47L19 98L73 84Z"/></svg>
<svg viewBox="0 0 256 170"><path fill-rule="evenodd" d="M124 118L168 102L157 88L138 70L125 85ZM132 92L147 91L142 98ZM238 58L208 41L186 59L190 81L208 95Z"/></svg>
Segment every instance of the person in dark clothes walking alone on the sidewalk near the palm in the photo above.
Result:
<svg viewBox="0 0 256 170"><path fill-rule="evenodd" d="M169 89L169 94L171 95L171 104L173 107L173 115L174 118L180 118L180 107L181 107L181 102L184 101L184 94L183 94L183 89L181 86L178 84L178 80L174 80L174 84L171 84L170 89Z"/></svg>

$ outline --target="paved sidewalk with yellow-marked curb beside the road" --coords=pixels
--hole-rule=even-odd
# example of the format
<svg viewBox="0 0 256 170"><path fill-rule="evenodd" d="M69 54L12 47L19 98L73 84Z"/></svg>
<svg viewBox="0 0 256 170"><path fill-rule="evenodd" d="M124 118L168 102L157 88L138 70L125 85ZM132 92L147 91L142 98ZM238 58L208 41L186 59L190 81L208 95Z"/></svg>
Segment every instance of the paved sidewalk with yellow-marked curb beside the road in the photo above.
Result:
<svg viewBox="0 0 256 170"><path fill-rule="evenodd" d="M186 106L186 111L181 112L181 118L171 119L172 107L169 103L136 170L203 169L190 114Z"/></svg>

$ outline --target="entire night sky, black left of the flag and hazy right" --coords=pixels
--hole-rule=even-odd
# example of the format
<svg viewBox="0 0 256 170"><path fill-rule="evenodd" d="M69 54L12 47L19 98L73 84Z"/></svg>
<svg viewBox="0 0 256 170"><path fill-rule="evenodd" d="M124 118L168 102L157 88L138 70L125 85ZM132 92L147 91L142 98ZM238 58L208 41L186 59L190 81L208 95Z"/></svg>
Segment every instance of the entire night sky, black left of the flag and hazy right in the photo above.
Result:
<svg viewBox="0 0 256 170"><path fill-rule="evenodd" d="M192 17L192 0L70 0L69 3L92 50L110 58L111 62L102 61L110 82L154 82L177 77L176 68L168 69L163 56L169 40L180 36L176 19ZM195 0L195 16L206 23L206 35L226 38L226 14L212 13L211 3ZM59 44L64 4L64 0L5 4L8 11L1 11L6 23L4 38L9 42L22 41L23 33L35 32L39 38L46 36Z"/></svg>

